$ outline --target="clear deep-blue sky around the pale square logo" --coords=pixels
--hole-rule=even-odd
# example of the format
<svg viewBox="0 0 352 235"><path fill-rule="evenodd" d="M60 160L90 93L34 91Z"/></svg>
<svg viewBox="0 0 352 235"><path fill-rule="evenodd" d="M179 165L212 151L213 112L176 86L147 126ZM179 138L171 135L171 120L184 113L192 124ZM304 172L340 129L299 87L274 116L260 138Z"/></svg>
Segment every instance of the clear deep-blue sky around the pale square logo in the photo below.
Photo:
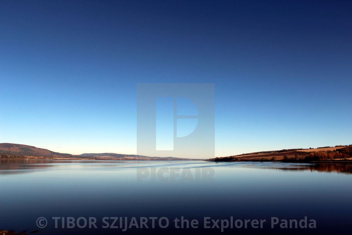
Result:
<svg viewBox="0 0 352 235"><path fill-rule="evenodd" d="M215 156L351 144L351 12L352 1L0 1L0 142L135 154L137 83L214 83Z"/></svg>

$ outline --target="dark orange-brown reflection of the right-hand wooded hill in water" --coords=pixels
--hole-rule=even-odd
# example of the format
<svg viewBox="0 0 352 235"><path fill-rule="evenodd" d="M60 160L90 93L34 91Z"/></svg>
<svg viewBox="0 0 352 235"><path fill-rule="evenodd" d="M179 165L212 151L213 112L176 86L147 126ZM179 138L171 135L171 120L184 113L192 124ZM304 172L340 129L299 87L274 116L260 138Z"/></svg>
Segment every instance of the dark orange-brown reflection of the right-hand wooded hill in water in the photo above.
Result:
<svg viewBox="0 0 352 235"><path fill-rule="evenodd" d="M260 166L259 166L260 167ZM262 167L260 167L262 168ZM270 167L263 168L279 169L282 171L319 171L319 172L337 172L342 174L352 174L351 163L316 163L311 165L291 165L290 167Z"/></svg>

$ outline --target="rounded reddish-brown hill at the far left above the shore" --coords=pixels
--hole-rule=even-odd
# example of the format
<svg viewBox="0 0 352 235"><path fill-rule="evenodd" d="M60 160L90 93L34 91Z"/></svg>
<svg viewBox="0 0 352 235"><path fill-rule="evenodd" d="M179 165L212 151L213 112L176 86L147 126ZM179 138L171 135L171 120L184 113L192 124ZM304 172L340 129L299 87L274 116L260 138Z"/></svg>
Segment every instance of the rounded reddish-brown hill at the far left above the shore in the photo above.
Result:
<svg viewBox="0 0 352 235"><path fill-rule="evenodd" d="M37 148L25 144L0 143L0 153L7 155L24 156L65 156L72 157L71 154L56 153L48 149Z"/></svg>

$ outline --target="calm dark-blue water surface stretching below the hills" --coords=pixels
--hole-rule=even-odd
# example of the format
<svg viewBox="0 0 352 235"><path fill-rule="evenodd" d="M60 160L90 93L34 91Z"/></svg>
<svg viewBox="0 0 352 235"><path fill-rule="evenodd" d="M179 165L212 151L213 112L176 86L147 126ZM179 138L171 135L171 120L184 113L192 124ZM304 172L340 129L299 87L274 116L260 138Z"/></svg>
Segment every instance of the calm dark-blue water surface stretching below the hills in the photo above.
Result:
<svg viewBox="0 0 352 235"><path fill-rule="evenodd" d="M350 234L351 169L346 164L271 162L0 160L0 229L27 234L217 234L221 228L211 228L212 219L219 219L219 227L221 220L223 227L228 221L222 234ZM189 223L197 220L198 228L175 228L174 219L182 216ZM45 224L39 217L46 218L45 228L37 227L37 222ZM68 228L67 217L75 218L74 228ZM79 217L87 220L84 227L80 219L84 228L76 224ZM89 228L89 217L96 218L97 228ZM132 226L122 231L119 218L113 225L119 228L102 228L113 224L111 217L122 217L122 229L125 221ZM136 228L141 217L149 228ZM155 228L150 217L157 217ZM168 227L159 227L161 217L168 218ZM204 228L204 217L210 217L210 228ZM272 217L279 219L274 228ZM305 217L307 228L300 228ZM247 228L235 226L236 220L245 219L266 221L263 228L252 228L251 221ZM288 227L296 219L298 228L294 222L293 228L280 228L282 219ZM316 228L308 228L311 219ZM165 218L161 225L166 226Z"/></svg>

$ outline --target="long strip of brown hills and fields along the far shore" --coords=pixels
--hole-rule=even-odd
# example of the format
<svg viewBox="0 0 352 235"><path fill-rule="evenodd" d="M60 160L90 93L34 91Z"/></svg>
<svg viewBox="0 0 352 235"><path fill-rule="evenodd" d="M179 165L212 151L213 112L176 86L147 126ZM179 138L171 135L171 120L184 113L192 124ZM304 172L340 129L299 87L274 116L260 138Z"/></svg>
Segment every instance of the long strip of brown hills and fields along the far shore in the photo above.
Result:
<svg viewBox="0 0 352 235"><path fill-rule="evenodd" d="M3 148L19 148L18 144L2 144ZM34 148L33 146L21 147ZM42 149L43 151L45 149ZM33 150L34 151L34 150ZM39 150L37 150L39 151ZM48 150L49 151L49 150ZM54 152L50 152L54 153ZM255 153L240 154L227 157L215 157L211 159L187 159L182 157L150 157L141 155L124 155L124 154L44 154L33 153L2 153L0 159L23 159L23 160L81 160L81 161L213 161L213 162L350 162L352 161L352 144L349 146L319 147L309 149L282 149L275 151L261 151Z"/></svg>

